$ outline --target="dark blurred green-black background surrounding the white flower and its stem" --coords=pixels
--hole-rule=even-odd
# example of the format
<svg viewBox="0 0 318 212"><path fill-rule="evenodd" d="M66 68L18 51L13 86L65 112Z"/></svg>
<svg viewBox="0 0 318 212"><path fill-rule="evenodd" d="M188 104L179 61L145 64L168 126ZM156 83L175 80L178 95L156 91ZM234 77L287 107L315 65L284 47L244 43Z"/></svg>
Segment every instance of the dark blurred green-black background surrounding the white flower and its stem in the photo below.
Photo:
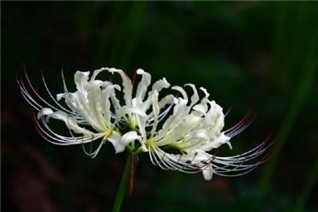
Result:
<svg viewBox="0 0 318 212"><path fill-rule="evenodd" d="M210 182L140 155L122 211L317 211L317 14L317 2L1 1L1 211L110 211L126 160L109 143L91 159L44 141L16 83L23 61L42 94L41 69L63 91L61 66L71 91L76 70L103 66L195 83L232 105L226 128L254 102L257 119L221 153L281 143L248 175Z"/></svg>

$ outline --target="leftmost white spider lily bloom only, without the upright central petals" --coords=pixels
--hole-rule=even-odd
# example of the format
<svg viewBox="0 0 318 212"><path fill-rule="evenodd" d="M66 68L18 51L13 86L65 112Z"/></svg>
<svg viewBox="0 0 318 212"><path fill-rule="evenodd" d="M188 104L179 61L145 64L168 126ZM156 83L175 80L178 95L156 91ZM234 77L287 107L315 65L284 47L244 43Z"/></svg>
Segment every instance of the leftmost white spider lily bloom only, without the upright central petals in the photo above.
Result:
<svg viewBox="0 0 318 212"><path fill-rule="evenodd" d="M146 116L146 114L131 105L116 108L117 110L111 112L110 99L117 100L115 90L120 91L121 88L118 85L113 85L110 81L95 80L100 71L101 70L94 71L89 81L89 71L77 71L74 76L77 90L74 93L69 93L67 90L62 71L64 93L58 94L57 100L55 100L50 93L42 74L44 86L54 102L54 105L52 105L37 93L25 70L25 78L28 81L28 86L32 90L32 93L25 87L22 79L18 80L18 84L25 100L38 111L37 119L34 119L34 124L44 139L58 145L83 144L101 139L100 145L95 151L88 153L85 151L85 148L83 148L85 153L92 158L98 154L105 141L110 141L116 153L119 153L124 151L126 145L134 140L136 132L121 136L119 131L115 130L115 124L127 113L134 112L141 117ZM64 98L69 108L59 104L58 101L61 100L61 98ZM69 129L70 136L62 136L55 133L47 124L51 118L63 121ZM90 126L91 129L86 129L84 126Z"/></svg>

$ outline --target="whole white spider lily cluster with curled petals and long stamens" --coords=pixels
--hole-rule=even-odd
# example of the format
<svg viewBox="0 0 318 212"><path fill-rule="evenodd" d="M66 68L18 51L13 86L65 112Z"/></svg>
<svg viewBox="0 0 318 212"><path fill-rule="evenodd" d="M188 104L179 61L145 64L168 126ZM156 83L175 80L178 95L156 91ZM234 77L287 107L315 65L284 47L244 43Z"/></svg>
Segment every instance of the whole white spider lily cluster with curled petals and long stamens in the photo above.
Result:
<svg viewBox="0 0 318 212"><path fill-rule="evenodd" d="M119 74L122 86L98 80L102 71ZM99 141L95 151L88 152L83 148L94 158L102 145L109 141L116 153L125 149L134 154L146 152L151 162L164 170L202 172L206 180L213 174L243 175L269 158L265 155L257 163L247 164L271 146L266 141L240 155L218 156L218 148L225 143L232 148L230 139L252 121L247 112L239 123L223 130L223 108L209 99L205 88L198 90L193 84L170 88L165 78L151 86L151 74L138 69L136 74L141 76L141 81L134 89L134 82L124 71L102 68L95 70L92 76L89 71L76 71L76 91L71 93L66 87L63 71L61 73L64 93L58 94L57 98L49 91L42 73L43 84L53 105L37 93L26 70L26 86L22 78L18 79L23 97L37 112L34 114L35 128L51 143L73 145ZM192 94L190 98L188 88ZM163 96L162 90L169 94ZM60 103L63 100L65 105ZM49 119L64 122L69 136L54 132ZM213 149L216 150L214 154L211 153Z"/></svg>

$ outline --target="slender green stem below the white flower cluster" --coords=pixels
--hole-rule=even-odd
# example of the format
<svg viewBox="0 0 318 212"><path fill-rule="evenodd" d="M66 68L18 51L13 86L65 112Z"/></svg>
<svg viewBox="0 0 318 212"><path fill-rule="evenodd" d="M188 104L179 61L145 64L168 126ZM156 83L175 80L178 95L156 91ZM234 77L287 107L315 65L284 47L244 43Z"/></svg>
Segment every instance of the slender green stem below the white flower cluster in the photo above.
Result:
<svg viewBox="0 0 318 212"><path fill-rule="evenodd" d="M129 153L126 166L124 169L124 173L122 174L122 179L120 180L119 189L117 192L116 199L114 201L114 206L112 208L112 212L119 212L120 207L122 206L122 200L124 199L124 195L126 193L126 187L128 183L128 178L130 175L131 165L132 165L133 154Z"/></svg>

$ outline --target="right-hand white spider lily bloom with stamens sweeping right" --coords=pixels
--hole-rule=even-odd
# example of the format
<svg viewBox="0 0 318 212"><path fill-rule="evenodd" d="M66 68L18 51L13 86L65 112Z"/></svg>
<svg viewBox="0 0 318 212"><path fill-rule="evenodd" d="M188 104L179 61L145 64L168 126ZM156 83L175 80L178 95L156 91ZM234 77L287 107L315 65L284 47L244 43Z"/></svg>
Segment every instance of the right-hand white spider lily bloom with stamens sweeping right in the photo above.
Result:
<svg viewBox="0 0 318 212"><path fill-rule="evenodd" d="M154 123L152 129L139 128L140 140L145 143L151 162L164 170L179 170L182 172L203 172L204 179L209 180L213 174L223 176L243 175L257 165L264 163L264 158L255 164L245 164L248 160L257 158L269 146L265 142L257 148L232 157L219 157L207 153L227 143L230 148L232 136L244 130L252 121L248 121L249 113L235 126L222 131L225 114L214 101L208 100L206 89L200 88L205 96L199 102L199 95L194 85L187 84L193 90L191 100L179 86L172 89L179 91L182 98L175 98L173 114L167 118L162 128L158 130L160 103L158 93L151 98ZM139 126L144 126L147 119L137 114ZM177 153L172 153L175 150Z"/></svg>

